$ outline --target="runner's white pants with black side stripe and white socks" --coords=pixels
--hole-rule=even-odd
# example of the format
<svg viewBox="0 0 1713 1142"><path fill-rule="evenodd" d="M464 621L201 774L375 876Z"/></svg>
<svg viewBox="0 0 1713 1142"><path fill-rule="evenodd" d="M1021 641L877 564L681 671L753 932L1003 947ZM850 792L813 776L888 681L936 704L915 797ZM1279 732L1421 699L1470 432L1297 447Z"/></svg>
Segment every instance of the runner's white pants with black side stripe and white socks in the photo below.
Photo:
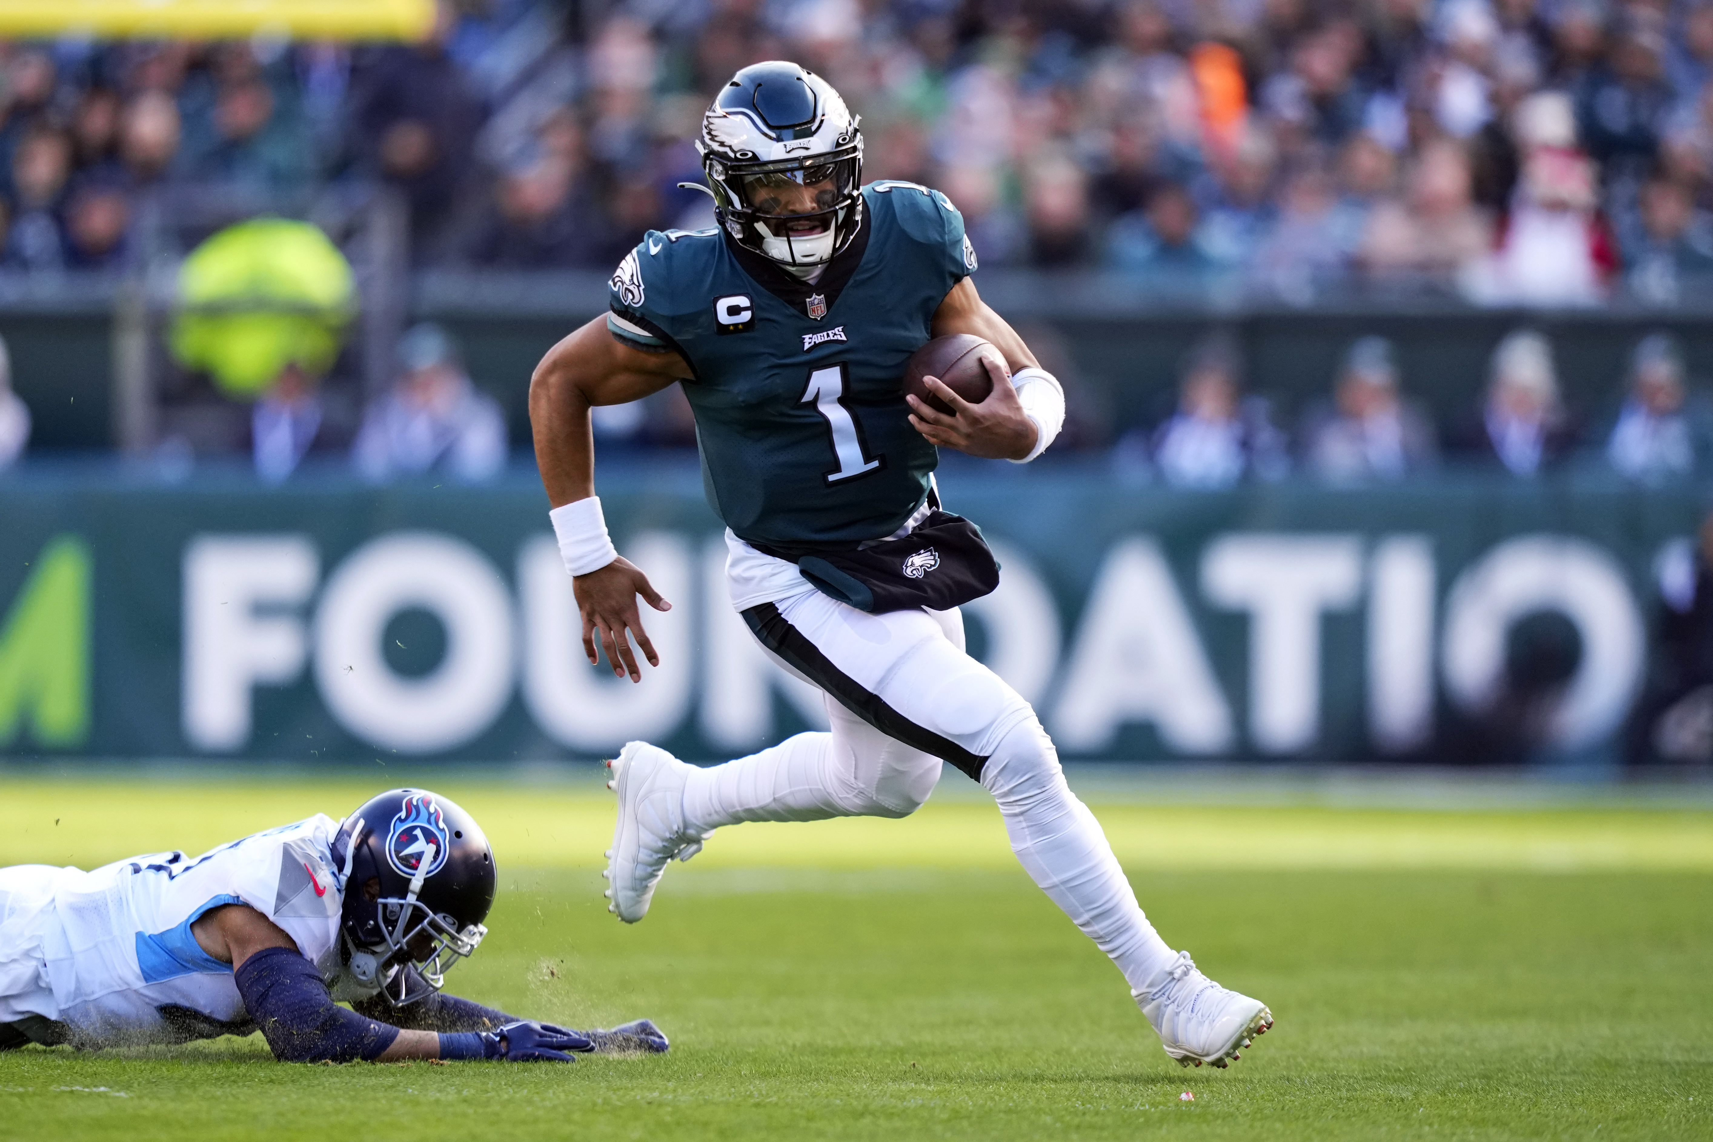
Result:
<svg viewBox="0 0 1713 1142"><path fill-rule="evenodd" d="M833 731L699 769L683 791L687 829L908 817L944 758L994 794L1024 870L1132 990L1172 962L1035 711L964 654L959 611L868 615L814 591L743 618L781 666L826 692Z"/></svg>

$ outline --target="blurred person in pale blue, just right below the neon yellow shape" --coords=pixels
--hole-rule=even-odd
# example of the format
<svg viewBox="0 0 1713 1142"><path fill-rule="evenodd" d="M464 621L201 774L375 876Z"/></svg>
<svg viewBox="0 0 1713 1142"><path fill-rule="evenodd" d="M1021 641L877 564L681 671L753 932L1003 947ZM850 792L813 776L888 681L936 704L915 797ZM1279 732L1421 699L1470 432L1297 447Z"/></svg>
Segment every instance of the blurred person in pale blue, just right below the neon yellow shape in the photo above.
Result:
<svg viewBox="0 0 1713 1142"><path fill-rule="evenodd" d="M454 479L492 479L505 466L505 416L464 372L457 346L433 324L399 339L399 377L368 406L351 449L365 479L444 469Z"/></svg>

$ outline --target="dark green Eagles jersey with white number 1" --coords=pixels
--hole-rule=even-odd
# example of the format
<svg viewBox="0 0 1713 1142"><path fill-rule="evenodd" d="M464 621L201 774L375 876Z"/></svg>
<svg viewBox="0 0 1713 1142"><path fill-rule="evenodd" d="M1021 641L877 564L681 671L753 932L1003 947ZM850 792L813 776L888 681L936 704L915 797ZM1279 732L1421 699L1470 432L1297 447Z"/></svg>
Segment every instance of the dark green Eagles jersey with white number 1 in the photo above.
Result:
<svg viewBox="0 0 1713 1142"><path fill-rule="evenodd" d="M718 229L649 231L613 274L608 327L690 363L702 483L733 532L776 546L877 539L922 505L939 462L910 426L904 361L973 269L946 195L879 181L815 284Z"/></svg>

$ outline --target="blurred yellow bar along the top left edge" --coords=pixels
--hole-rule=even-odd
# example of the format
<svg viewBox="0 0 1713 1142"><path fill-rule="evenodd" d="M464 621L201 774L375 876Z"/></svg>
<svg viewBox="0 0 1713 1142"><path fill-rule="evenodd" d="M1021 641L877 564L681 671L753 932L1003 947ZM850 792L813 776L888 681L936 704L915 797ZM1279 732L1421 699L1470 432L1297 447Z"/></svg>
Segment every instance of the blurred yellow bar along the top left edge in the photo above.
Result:
<svg viewBox="0 0 1713 1142"><path fill-rule="evenodd" d="M423 39L433 0L0 0L0 36Z"/></svg>

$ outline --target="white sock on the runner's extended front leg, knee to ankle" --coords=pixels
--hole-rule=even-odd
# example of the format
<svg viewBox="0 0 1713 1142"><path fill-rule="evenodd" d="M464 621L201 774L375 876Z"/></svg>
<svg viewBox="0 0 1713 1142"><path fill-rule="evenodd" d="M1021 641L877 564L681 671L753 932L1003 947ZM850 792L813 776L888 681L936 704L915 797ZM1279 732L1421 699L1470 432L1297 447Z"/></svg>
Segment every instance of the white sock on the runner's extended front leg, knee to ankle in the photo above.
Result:
<svg viewBox="0 0 1713 1142"><path fill-rule="evenodd" d="M1177 957L1136 902L1100 822L1065 784L1040 721L1030 717L1000 738L982 786L999 801L1023 868L1112 957L1132 991Z"/></svg>

